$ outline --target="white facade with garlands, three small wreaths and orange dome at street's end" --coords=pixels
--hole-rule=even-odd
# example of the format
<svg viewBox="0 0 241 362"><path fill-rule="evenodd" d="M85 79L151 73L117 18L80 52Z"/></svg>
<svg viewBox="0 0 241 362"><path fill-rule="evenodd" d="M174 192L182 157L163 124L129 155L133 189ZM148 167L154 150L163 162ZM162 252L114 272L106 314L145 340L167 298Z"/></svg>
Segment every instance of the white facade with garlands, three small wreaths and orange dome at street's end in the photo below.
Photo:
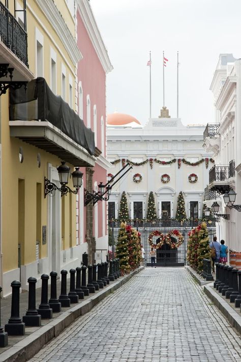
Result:
<svg viewBox="0 0 241 362"><path fill-rule="evenodd" d="M184 126L179 118L170 118L166 107L145 126L129 115L107 116L107 157L113 163L109 174L115 175L128 160L133 165L112 188L109 219L118 217L124 190L131 218L146 218L150 191L158 217L166 212L175 217L179 191L184 193L187 217L202 217L204 188L213 166L213 153L202 147L204 129L204 125Z"/></svg>

